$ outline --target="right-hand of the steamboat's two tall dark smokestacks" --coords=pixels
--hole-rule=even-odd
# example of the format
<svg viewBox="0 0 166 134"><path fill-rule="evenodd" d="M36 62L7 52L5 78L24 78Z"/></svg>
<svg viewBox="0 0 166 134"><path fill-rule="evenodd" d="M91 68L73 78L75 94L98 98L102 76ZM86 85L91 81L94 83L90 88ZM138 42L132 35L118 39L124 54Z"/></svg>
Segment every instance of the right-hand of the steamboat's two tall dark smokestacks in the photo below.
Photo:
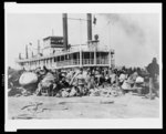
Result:
<svg viewBox="0 0 166 134"><path fill-rule="evenodd" d="M87 13L87 41L92 40L92 14Z"/></svg>

